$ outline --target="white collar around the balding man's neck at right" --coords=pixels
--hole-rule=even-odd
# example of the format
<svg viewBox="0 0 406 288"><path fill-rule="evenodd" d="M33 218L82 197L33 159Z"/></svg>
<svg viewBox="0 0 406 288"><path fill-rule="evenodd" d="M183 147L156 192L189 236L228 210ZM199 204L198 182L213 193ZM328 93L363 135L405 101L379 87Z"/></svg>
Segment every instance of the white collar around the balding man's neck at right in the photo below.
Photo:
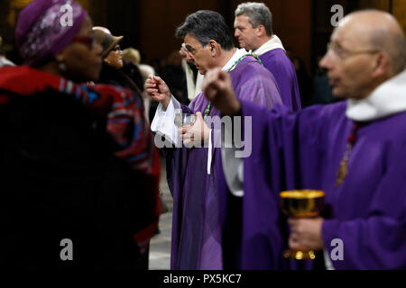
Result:
<svg viewBox="0 0 406 288"><path fill-rule="evenodd" d="M373 121L406 112L406 70L379 85L361 100L349 99L346 117L354 121Z"/></svg>

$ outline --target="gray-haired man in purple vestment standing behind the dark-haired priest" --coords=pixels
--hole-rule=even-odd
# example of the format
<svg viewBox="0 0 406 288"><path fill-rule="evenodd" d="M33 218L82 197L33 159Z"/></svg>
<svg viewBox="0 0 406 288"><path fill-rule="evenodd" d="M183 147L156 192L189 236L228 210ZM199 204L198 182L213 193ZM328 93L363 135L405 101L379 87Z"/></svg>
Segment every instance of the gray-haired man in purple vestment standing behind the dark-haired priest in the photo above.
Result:
<svg viewBox="0 0 406 288"><path fill-rule="evenodd" d="M300 110L298 78L281 40L272 30L272 14L263 3L242 3L235 9L235 37L241 48L252 50L272 72L281 91L282 103Z"/></svg>

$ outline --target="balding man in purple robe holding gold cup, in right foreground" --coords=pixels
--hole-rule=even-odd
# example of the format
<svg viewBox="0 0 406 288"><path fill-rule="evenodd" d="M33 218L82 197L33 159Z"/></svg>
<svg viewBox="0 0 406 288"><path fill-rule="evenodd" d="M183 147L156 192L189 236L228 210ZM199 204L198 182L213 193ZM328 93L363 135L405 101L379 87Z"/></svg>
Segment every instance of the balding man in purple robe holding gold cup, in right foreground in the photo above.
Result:
<svg viewBox="0 0 406 288"><path fill-rule="evenodd" d="M288 241L281 236L279 193L317 189L326 193L329 212L289 220L291 248L324 250L331 269L405 269L404 33L391 14L349 14L319 65L328 70L333 94L347 101L295 114L237 101L228 77L208 72L205 91L217 109L253 117L239 267L280 268ZM223 165L228 180L241 180Z"/></svg>

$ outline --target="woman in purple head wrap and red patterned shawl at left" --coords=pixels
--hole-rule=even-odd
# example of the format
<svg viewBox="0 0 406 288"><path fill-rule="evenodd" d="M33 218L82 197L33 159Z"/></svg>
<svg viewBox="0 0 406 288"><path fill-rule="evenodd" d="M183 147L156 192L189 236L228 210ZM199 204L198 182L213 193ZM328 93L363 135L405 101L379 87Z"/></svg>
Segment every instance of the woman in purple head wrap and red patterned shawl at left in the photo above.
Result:
<svg viewBox="0 0 406 288"><path fill-rule="evenodd" d="M0 69L0 266L147 268L159 157L142 99L80 84L100 73L92 26L69 0L34 0L19 16L27 65Z"/></svg>

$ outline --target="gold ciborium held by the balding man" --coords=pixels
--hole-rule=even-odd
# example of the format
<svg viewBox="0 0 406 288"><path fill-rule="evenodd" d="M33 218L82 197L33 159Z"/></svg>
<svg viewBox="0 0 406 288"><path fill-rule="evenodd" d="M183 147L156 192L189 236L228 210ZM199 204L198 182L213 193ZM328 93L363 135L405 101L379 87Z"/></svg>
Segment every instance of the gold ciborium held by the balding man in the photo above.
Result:
<svg viewBox="0 0 406 288"><path fill-rule="evenodd" d="M291 218L318 217L324 208L324 192L320 190L290 190L280 193L281 210ZM288 249L283 257L308 260L315 259L314 251L305 248Z"/></svg>

